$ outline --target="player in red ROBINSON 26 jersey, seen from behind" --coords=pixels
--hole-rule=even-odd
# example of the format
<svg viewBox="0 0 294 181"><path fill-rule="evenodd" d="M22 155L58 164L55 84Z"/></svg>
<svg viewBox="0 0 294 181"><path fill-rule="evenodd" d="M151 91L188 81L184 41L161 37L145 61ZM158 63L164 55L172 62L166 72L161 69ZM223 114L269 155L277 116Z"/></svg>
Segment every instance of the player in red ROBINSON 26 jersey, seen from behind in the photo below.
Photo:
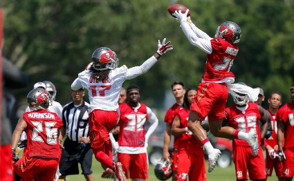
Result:
<svg viewBox="0 0 294 181"><path fill-rule="evenodd" d="M30 90L27 102L32 111L19 119L12 135L12 166L22 180L52 181L55 178L61 155L58 137L62 120L47 110L49 97L43 88ZM28 136L28 146L19 159L15 149L23 131Z"/></svg>

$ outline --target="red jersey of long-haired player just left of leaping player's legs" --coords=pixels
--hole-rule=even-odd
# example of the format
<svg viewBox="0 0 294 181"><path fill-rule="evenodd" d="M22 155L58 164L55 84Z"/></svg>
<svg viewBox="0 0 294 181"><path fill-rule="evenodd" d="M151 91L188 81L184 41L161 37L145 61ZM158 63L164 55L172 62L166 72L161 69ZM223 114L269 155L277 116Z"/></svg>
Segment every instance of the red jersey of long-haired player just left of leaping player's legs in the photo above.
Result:
<svg viewBox="0 0 294 181"><path fill-rule="evenodd" d="M180 119L181 128L187 127L189 110L186 110L185 108L180 108L175 116ZM187 151L187 153L202 153L203 155L201 144L195 139L191 131L190 133L183 133L182 135L175 136L174 144L177 145L178 151L185 150Z"/></svg>

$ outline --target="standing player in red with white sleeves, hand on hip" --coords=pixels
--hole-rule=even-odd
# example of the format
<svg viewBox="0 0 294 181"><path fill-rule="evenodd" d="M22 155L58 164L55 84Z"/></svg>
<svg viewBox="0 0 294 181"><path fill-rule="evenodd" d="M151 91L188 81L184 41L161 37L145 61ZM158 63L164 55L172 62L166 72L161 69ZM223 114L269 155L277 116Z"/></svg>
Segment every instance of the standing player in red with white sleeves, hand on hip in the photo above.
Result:
<svg viewBox="0 0 294 181"><path fill-rule="evenodd" d="M147 121L150 126L145 131ZM140 102L140 88L136 85L127 88L127 102L120 104L119 124L118 161L122 163L127 178L147 180L148 140L158 126L158 118L151 108Z"/></svg>

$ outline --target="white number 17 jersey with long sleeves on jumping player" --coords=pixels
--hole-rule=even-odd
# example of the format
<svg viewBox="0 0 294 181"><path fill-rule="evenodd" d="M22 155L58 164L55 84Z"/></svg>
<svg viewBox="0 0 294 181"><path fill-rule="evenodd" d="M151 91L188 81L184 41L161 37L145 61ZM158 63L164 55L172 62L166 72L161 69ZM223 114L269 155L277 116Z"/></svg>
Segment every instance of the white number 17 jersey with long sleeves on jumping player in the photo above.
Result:
<svg viewBox="0 0 294 181"><path fill-rule="evenodd" d="M118 99L120 97L120 89L126 79L133 79L138 75L146 73L151 66L156 63L157 59L152 56L147 59L141 66L127 68L121 66L111 70L109 77L103 82L98 82L91 77L89 70L79 73L77 79L71 84L72 90L78 90L82 87L86 88L89 93L90 110L100 109L104 111L118 111Z"/></svg>

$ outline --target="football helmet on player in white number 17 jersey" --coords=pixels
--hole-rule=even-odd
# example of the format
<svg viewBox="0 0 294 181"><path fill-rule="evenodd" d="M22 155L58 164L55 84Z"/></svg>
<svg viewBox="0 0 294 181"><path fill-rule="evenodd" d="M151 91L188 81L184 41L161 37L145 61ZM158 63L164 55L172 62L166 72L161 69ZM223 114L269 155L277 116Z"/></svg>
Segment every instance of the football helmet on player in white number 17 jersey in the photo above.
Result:
<svg viewBox="0 0 294 181"><path fill-rule="evenodd" d="M93 64L91 65L95 70L115 69L118 67L118 57L116 53L110 48L97 48L92 55Z"/></svg>

